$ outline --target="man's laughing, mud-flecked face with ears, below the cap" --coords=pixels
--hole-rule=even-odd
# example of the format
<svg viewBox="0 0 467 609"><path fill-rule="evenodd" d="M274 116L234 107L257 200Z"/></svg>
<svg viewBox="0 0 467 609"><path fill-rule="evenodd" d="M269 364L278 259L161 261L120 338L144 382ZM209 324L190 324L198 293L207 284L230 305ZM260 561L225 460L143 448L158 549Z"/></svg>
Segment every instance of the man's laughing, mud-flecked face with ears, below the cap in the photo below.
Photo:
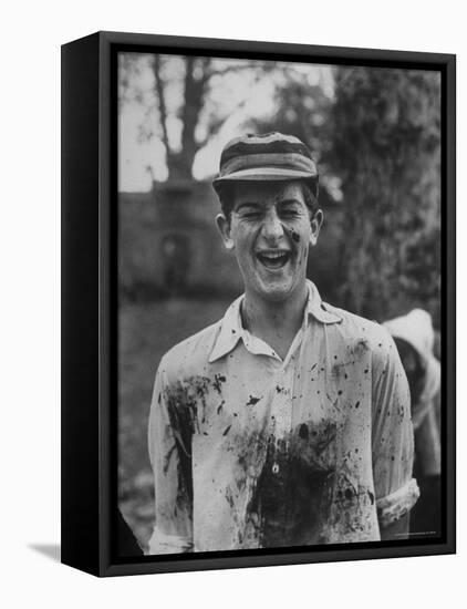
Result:
<svg viewBox="0 0 467 609"><path fill-rule="evenodd" d="M247 293L281 301L303 289L308 251L322 221L313 218L299 182L251 182L236 187L231 217L217 224L228 249L235 249Z"/></svg>

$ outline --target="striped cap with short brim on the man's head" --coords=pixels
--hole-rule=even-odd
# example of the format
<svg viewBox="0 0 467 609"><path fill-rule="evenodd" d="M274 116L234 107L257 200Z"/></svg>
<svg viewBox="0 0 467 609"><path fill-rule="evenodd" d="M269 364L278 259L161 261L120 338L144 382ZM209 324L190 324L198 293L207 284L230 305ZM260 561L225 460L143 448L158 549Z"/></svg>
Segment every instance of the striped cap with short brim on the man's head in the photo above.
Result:
<svg viewBox="0 0 467 609"><path fill-rule="evenodd" d="M273 132L231 140L220 156L216 192L228 182L307 179L318 183L316 165L298 137Z"/></svg>

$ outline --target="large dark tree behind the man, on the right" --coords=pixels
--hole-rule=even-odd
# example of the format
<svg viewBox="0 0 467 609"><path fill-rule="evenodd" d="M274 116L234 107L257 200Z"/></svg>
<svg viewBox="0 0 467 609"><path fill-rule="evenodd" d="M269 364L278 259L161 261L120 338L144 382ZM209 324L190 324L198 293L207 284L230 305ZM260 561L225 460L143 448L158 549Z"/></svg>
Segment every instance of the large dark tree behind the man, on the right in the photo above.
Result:
<svg viewBox="0 0 467 609"><path fill-rule="evenodd" d="M342 178L341 298L382 320L439 314L440 82L428 71L336 72L333 164Z"/></svg>

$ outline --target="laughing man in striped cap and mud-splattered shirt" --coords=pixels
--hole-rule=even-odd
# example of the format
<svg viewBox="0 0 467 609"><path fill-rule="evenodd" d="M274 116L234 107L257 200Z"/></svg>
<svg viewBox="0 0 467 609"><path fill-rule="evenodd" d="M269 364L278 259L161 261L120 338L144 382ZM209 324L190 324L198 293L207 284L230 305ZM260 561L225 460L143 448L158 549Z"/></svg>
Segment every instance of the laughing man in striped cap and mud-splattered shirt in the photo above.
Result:
<svg viewBox="0 0 467 609"><path fill-rule="evenodd" d="M236 138L214 187L245 293L159 364L149 554L404 537L418 494L407 381L386 330L307 280L323 220L309 149Z"/></svg>

